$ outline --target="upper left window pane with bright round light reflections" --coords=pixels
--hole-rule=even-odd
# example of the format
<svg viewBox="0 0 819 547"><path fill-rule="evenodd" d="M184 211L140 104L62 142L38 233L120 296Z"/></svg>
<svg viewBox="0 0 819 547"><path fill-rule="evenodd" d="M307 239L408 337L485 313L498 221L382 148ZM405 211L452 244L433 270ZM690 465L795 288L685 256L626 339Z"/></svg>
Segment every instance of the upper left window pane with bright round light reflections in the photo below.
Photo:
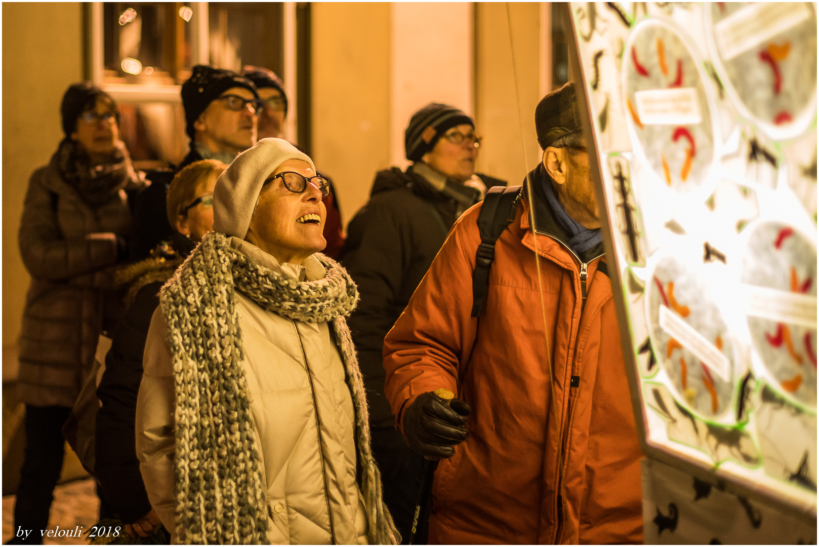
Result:
<svg viewBox="0 0 819 547"><path fill-rule="evenodd" d="M103 2L106 80L133 84L184 80L190 69L189 4Z"/></svg>

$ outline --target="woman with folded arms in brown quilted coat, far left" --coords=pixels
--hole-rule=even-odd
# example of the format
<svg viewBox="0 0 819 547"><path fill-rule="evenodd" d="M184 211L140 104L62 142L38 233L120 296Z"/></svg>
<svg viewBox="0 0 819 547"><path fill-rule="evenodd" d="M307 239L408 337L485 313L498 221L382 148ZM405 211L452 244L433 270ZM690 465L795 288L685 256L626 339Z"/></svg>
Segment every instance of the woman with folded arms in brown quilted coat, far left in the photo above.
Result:
<svg viewBox="0 0 819 547"><path fill-rule="evenodd" d="M34 543L42 542L60 476L61 427L99 335L118 318L114 270L127 254L130 195L145 185L120 141L116 103L107 93L73 84L61 116L66 138L31 175L19 233L31 285L20 336L17 389L27 444L14 526L31 530L25 540Z"/></svg>

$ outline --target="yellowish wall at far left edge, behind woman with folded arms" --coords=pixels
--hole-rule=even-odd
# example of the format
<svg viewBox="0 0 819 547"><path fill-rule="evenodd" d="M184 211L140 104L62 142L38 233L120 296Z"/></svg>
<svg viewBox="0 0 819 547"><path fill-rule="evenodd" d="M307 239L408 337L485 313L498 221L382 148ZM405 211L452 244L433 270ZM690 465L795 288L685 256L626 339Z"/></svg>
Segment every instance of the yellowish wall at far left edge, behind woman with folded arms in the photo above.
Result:
<svg viewBox="0 0 819 547"><path fill-rule="evenodd" d="M17 232L29 176L62 139L60 101L83 79L80 2L2 5L2 367L16 376L16 346L29 286Z"/></svg>

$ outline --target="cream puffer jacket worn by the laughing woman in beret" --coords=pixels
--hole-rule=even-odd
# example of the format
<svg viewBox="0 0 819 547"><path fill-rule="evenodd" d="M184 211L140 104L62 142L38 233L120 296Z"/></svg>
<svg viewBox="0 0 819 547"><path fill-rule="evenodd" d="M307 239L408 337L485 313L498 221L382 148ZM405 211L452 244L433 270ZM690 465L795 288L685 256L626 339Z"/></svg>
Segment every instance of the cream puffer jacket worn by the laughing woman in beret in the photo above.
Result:
<svg viewBox="0 0 819 547"><path fill-rule="evenodd" d="M234 248L298 279L326 271L303 267L242 239ZM271 544L366 544L367 521L356 476L355 413L342 358L326 322L292 321L236 291L244 371L251 396ZM157 308L148 331L137 400L137 455L148 498L169 531L174 525L174 379L167 326ZM175 540L175 537L174 537Z"/></svg>

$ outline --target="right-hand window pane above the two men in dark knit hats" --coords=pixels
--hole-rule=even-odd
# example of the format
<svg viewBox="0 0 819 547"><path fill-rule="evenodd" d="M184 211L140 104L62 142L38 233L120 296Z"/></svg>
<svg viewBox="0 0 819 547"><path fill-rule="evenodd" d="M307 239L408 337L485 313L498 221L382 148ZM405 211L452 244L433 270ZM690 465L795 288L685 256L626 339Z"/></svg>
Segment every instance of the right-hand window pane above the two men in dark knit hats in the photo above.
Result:
<svg viewBox="0 0 819 547"><path fill-rule="evenodd" d="M210 2L210 64L231 71L283 72L282 2Z"/></svg>

